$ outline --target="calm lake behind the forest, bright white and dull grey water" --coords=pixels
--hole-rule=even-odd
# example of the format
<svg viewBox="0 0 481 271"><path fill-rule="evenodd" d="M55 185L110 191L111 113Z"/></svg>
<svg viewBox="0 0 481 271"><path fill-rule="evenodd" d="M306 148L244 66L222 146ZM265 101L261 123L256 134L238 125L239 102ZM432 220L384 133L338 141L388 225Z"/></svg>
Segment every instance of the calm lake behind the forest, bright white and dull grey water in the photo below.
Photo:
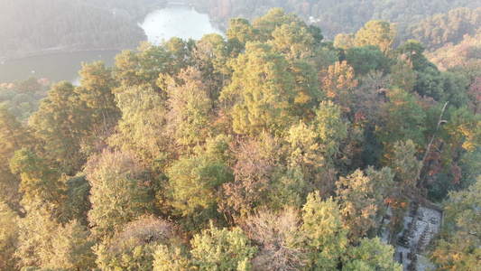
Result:
<svg viewBox="0 0 481 271"><path fill-rule="evenodd" d="M222 33L212 26L208 14L199 14L191 6L172 5L147 14L139 23L149 42L160 44L171 37L199 40L206 33ZM0 62L0 84L14 80L47 78L54 82L68 80L79 84L81 62L105 61L113 66L120 51L80 51L34 56Z"/></svg>

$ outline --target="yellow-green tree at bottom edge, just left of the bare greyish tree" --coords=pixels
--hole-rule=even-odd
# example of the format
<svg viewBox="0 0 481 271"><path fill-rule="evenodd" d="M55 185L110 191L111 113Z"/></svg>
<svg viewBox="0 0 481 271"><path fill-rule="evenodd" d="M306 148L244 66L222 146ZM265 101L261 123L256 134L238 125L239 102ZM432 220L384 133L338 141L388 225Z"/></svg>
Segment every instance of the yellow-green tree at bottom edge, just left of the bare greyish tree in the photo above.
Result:
<svg viewBox="0 0 481 271"><path fill-rule="evenodd" d="M192 262L201 270L251 270L250 260L257 252L240 228L210 229L191 240Z"/></svg>

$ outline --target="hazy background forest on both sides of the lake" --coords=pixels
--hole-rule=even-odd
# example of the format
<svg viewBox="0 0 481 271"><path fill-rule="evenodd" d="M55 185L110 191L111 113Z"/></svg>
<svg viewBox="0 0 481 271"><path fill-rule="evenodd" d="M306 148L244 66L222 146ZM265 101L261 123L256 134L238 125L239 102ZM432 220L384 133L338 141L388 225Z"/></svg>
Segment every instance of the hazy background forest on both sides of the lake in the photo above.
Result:
<svg viewBox="0 0 481 271"><path fill-rule="evenodd" d="M0 3L1 58L58 51L134 49L145 39L138 21L166 0L45 0ZM230 18L252 22L273 7L295 13L322 29L325 40L355 33L368 21L384 20L396 27L396 45L409 39L427 49L459 42L476 32L481 0L180 0L208 13L227 31ZM460 9L460 8L464 8ZM473 14L471 14L473 13ZM26 19L28 18L28 19ZM394 25L393 24L393 25ZM472 26L472 27L471 27ZM26 35L25 33L28 33ZM437 44L437 45L436 45Z"/></svg>

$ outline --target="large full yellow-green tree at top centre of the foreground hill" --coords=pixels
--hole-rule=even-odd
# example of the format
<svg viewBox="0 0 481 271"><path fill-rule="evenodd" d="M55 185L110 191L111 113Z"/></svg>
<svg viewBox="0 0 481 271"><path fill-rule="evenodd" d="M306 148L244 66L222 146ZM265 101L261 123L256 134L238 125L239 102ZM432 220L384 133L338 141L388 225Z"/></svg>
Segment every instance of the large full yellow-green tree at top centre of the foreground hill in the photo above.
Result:
<svg viewBox="0 0 481 271"><path fill-rule="evenodd" d="M245 54L233 64L232 83L220 98L233 103L234 131L258 135L263 130L282 133L290 122L294 84L283 55L270 45L247 43Z"/></svg>

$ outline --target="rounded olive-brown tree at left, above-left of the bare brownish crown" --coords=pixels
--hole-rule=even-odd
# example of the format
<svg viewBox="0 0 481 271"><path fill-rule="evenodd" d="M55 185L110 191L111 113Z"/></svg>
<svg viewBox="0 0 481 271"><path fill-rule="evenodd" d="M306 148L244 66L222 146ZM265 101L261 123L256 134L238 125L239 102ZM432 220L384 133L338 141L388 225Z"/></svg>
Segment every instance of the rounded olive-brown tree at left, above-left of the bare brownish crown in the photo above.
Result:
<svg viewBox="0 0 481 271"><path fill-rule="evenodd" d="M142 166L127 152L105 150L85 168L91 185L88 221L98 237L111 238L131 220L150 210L153 199Z"/></svg>

